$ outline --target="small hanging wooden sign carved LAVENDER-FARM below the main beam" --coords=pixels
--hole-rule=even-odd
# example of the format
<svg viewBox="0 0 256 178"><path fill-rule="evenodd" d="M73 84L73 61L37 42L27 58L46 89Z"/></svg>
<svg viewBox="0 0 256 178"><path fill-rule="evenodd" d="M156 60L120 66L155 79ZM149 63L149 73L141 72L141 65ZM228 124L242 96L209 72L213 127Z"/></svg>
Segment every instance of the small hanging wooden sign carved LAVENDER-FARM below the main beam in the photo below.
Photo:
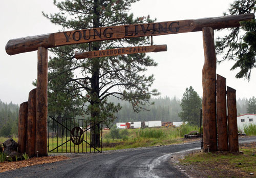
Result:
<svg viewBox="0 0 256 178"><path fill-rule="evenodd" d="M151 52L160 52L167 51L167 45L153 45L145 47L129 47L129 48L118 48L118 49L109 49L109 50L100 50L100 51L89 51L84 53L75 53L76 59L84 58L96 58L96 57L105 57L105 56L117 56L124 54L136 54L136 53L151 53Z"/></svg>

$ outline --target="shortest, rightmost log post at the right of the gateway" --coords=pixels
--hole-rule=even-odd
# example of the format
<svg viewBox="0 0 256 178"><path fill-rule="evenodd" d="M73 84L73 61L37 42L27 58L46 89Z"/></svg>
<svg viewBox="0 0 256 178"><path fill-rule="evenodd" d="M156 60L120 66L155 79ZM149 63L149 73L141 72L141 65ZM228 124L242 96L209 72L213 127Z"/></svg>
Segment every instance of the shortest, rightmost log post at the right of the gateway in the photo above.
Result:
<svg viewBox="0 0 256 178"><path fill-rule="evenodd" d="M227 86L228 141L229 151L238 152L238 123L236 90Z"/></svg>

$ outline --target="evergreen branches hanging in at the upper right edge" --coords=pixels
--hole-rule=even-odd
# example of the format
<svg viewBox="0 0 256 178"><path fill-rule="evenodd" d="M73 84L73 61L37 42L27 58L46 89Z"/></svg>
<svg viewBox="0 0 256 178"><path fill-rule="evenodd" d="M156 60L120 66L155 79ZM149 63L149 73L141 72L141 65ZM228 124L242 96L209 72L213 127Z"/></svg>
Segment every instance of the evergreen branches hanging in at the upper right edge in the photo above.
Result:
<svg viewBox="0 0 256 178"><path fill-rule="evenodd" d="M224 15L238 15L256 12L255 0L236 0ZM256 21L242 21L242 28L231 28L230 33L216 41L217 54L225 53L223 60L235 60L231 70L240 68L236 78L250 79L251 70L256 66ZM221 62L220 60L218 62Z"/></svg>

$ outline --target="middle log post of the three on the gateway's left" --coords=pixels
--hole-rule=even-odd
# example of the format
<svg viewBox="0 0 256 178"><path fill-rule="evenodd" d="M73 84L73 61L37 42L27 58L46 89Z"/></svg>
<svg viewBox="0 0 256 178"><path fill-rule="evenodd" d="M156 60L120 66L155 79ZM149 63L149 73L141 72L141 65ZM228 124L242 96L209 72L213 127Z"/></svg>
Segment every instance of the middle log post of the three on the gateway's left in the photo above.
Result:
<svg viewBox="0 0 256 178"><path fill-rule="evenodd" d="M29 92L26 151L35 156L36 88Z"/></svg>

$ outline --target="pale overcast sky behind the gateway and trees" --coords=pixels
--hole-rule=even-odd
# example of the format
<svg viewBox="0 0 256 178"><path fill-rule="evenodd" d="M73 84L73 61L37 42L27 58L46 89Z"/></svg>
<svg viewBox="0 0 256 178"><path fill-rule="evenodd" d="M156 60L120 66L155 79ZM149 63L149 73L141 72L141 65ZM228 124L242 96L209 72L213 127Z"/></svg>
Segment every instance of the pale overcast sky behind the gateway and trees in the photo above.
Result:
<svg viewBox="0 0 256 178"><path fill-rule="evenodd" d="M134 4L131 12L135 16L150 15L157 21L197 19L222 16L232 0L141 0ZM20 104L28 100L29 92L34 88L32 81L37 78L37 53L28 52L9 56L5 45L9 39L54 33L61 27L50 23L42 16L46 13L58 12L52 0L8 0L1 2L0 19L0 99L3 102ZM215 37L225 32L215 31ZM154 44L167 44L167 52L148 53L158 62L158 66L148 69L147 74L155 75L153 88L161 92L161 96L182 98L185 88L194 87L202 96L202 68L204 51L202 32L181 33L153 37ZM50 54L51 55L51 54ZM221 56L217 56L221 59ZM255 69L248 82L236 79L237 71L230 71L234 61L226 61L217 65L217 74L227 79L227 85L237 90L237 98L255 96Z"/></svg>

